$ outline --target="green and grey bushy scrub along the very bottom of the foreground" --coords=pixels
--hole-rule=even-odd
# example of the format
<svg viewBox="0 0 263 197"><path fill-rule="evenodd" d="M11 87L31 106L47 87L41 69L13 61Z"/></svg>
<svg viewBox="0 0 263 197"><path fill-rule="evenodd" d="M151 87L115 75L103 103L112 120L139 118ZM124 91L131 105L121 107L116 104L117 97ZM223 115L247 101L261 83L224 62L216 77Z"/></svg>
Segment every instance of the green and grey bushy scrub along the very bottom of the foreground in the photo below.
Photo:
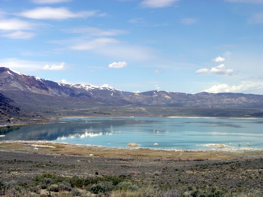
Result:
<svg viewBox="0 0 263 197"><path fill-rule="evenodd" d="M125 175L63 177L43 173L31 183L0 182L0 196L112 196L112 197L224 197L262 196L262 191L239 188L229 192L223 188L201 187L167 183L145 185Z"/></svg>

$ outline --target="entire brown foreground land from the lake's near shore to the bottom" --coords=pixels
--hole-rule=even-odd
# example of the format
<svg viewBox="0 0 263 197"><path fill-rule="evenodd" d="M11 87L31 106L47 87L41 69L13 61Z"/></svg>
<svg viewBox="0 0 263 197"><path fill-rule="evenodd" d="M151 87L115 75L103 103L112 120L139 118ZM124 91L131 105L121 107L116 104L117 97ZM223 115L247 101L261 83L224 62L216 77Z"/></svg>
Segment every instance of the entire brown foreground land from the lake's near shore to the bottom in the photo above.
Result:
<svg viewBox="0 0 263 197"><path fill-rule="evenodd" d="M263 151L0 142L0 196L263 196Z"/></svg>

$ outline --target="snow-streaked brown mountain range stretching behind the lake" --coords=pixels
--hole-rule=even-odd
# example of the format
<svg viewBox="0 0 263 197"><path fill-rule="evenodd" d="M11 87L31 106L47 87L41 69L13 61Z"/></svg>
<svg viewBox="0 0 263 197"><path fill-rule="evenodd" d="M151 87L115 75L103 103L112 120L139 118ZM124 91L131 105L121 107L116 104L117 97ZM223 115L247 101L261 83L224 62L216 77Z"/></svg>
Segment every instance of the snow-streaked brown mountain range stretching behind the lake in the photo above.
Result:
<svg viewBox="0 0 263 197"><path fill-rule="evenodd" d="M100 103L101 105L263 108L263 95L229 92L188 94L160 90L134 93L109 87L45 80L5 67L0 67L0 94L0 103L8 106L9 113L12 114L21 113L23 106L34 107L41 104L52 107L63 106L63 103L67 102L81 102L89 106L92 103ZM2 113L4 113L3 109Z"/></svg>

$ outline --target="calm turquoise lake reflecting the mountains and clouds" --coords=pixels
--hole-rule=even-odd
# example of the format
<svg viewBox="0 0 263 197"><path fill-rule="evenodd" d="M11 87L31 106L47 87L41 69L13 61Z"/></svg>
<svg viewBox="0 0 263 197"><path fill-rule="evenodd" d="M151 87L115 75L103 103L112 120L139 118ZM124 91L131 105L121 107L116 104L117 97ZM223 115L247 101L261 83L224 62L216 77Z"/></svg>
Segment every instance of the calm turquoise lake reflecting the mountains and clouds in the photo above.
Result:
<svg viewBox="0 0 263 197"><path fill-rule="evenodd" d="M47 140L105 147L155 149L263 149L262 119L87 117L9 129L0 140ZM241 145L238 143L241 142ZM158 145L154 145L158 143ZM230 144L231 143L231 144ZM247 143L251 143L250 146ZM213 144L225 144L225 147Z"/></svg>

